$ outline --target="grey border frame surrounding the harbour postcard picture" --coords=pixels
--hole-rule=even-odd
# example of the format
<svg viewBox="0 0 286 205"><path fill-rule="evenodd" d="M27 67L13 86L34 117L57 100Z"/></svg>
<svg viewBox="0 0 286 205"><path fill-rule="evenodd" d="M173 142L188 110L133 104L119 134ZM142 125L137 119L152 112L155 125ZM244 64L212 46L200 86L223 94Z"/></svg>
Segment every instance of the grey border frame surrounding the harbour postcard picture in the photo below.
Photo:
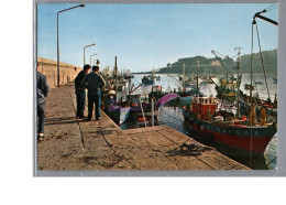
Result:
<svg viewBox="0 0 286 205"><path fill-rule="evenodd" d="M278 3L278 154L277 170L251 171L40 171L36 155L35 83L33 95L34 176L286 176L286 2L285 0L34 0L33 1L33 75L36 74L36 4L38 3Z"/></svg>

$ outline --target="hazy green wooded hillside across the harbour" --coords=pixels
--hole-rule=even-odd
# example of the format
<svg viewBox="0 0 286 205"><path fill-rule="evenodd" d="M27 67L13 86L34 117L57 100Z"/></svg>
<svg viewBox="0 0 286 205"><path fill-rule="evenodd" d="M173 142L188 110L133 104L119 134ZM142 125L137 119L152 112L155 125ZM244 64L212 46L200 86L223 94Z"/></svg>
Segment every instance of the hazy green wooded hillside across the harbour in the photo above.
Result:
<svg viewBox="0 0 286 205"><path fill-rule="evenodd" d="M277 73L277 50L262 52L264 67L266 73ZM158 74L182 74L183 65L185 64L186 74L197 73L197 61L199 61L199 74L222 74L226 73L226 68L220 65L219 61L213 58L207 58L204 56L179 58L177 62L168 63L166 67L161 68ZM237 66L237 62L230 58L220 58L221 62L228 67L229 71L234 73L233 68ZM250 73L251 55L241 56L242 73ZM150 73L150 72L147 72ZM260 53L253 54L253 73L263 73Z"/></svg>

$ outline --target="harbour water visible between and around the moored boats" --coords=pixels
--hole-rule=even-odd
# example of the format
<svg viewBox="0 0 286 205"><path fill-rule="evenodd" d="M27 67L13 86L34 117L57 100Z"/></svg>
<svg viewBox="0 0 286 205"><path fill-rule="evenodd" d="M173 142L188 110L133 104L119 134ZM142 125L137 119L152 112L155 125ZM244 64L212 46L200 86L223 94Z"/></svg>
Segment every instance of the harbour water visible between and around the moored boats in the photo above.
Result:
<svg viewBox="0 0 286 205"><path fill-rule="evenodd" d="M132 79L132 83L136 87L138 85L141 84L141 78L144 75L134 75L134 78ZM178 87L182 88L182 83L178 80L178 74L173 74L173 77L170 77L167 74L162 74L161 80L156 82L156 85L162 86L163 91L166 91L167 89L174 89L178 90ZM218 78L222 77L222 75L218 75ZM273 83L273 77L274 75L270 75L270 78L267 79L267 85L270 89L270 95L272 100L274 100L276 90L277 90L277 84ZM268 94L267 89L265 86L265 79L262 74L256 74L253 77L255 82L261 82L262 84L254 85L255 90L258 91L258 95L262 99L267 99ZM241 89L244 94L249 94L249 90L244 89L244 84L250 84L250 75L243 75L242 77L242 85ZM201 85L200 86L200 91L205 94L206 96L216 96L217 91L215 89L216 85L215 84L207 84L207 85ZM152 86L142 86L140 87L135 94L148 94L151 91ZM254 90L254 93L255 93ZM271 142L268 143L268 147L265 150L264 155L253 155L249 152L241 152L239 150L233 150L232 148L226 147L221 143L218 142L212 142L209 144L209 142L204 141L204 138L200 136L197 136L196 132L191 129L190 125L185 122L183 114L182 114L182 108L180 107L168 107L168 106L163 106L160 109L158 112L158 118L155 121L155 125L166 125L179 132L183 132L187 136L190 136L197 141L200 141L207 145L211 145L216 148L219 152L221 152L224 155L228 155L229 158L243 163L246 166L250 166L255 170L265 170L265 169L271 169L274 170L276 169L276 163L277 163L277 138L274 137ZM127 121L121 126L121 129L131 129L135 128L136 125L134 120Z"/></svg>

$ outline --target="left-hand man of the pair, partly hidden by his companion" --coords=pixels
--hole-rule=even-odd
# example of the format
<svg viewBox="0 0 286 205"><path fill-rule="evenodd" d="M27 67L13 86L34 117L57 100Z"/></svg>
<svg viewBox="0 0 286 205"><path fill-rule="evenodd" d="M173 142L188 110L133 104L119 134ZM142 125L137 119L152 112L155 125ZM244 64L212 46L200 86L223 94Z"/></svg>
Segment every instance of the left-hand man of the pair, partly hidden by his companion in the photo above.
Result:
<svg viewBox="0 0 286 205"><path fill-rule="evenodd" d="M86 77L86 75L90 71L90 65L85 65L84 71L79 72L77 77L75 78L75 89L77 97L77 118L86 118L84 116L85 107L86 107L86 88L81 85L81 80Z"/></svg>

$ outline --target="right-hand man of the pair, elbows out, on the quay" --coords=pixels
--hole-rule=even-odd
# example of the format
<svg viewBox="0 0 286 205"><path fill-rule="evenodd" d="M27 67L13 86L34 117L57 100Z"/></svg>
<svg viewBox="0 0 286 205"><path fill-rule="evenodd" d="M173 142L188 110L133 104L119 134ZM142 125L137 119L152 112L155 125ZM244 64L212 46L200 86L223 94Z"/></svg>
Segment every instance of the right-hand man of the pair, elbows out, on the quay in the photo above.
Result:
<svg viewBox="0 0 286 205"><path fill-rule="evenodd" d="M92 66L92 72L88 74L81 82L88 89L88 118L92 118L94 104L96 106L96 119L101 120L100 104L101 104L101 88L106 85L106 80L99 74L99 66Z"/></svg>

